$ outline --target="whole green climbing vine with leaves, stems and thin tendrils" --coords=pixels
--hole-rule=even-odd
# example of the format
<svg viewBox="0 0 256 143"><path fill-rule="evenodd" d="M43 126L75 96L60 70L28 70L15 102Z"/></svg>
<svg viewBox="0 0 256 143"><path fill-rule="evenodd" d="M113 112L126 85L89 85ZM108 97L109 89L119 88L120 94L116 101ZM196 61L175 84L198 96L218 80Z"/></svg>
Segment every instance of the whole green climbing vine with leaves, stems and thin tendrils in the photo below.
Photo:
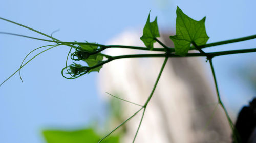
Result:
<svg viewBox="0 0 256 143"><path fill-rule="evenodd" d="M21 36L21 37L31 38L31 39L35 39L35 40L41 40L41 41L55 43L55 44L52 44L52 45L46 45L46 46L36 48L36 49L32 50L31 52L29 52L25 56L24 60L22 61L22 64L20 65L20 68L17 71L15 71L10 77L8 77L5 81L3 81L0 84L0 86L3 85L8 79L10 79L18 71L19 71L20 79L22 80L20 70L27 63L29 63L31 60L36 58L39 54L44 53L44 52L46 52L46 51L48 51L48 50L50 50L54 47L58 47L58 46L68 46L68 47L70 47L70 50L68 52L68 56L67 56L67 59L66 59L66 67L64 67L61 70L62 76L67 78L67 79L75 79L75 78L78 78L82 75L89 74L90 72L95 72L95 71L99 72L104 64L109 63L113 60L117 60L117 59L162 57L162 58L164 58L164 62L162 64L162 67L161 67L160 72L158 74L158 77L156 79L156 82L154 84L152 92L148 96L144 105L143 106L138 105L136 103L133 103L133 102L130 102L130 101L127 101L127 100L116 97L116 98L118 98L120 100L123 100L125 102L129 102L129 103L141 106L141 108L137 112L135 112L131 117L129 117L128 119L123 121L119 126L117 126L115 129L113 129L111 132L109 132L109 134L105 135L99 141L99 142L101 142L102 140L104 140L106 137L108 137L110 134L112 134L116 129L118 129L120 126L122 126L127 121L129 121L131 118L133 118L135 115L137 115L137 113L139 113L141 110L143 110L143 113L142 113L142 116L141 116L141 119L140 119L140 122L139 122L139 126L138 126L136 134L133 138L133 142L135 142L135 139L138 135L140 126L142 124L142 120L143 120L143 117L144 117L144 114L145 114L146 107L147 107L148 103L150 102L150 100L151 100L151 98L154 94L154 91L157 87L158 81L161 77L161 74L163 72L163 69L164 69L166 63L167 63L167 60L171 59L172 57L185 58L185 57L202 56L202 57L206 57L207 60L209 61L210 68L211 68L211 71L212 71L212 76L213 76L214 82L215 82L218 104L224 110L231 130L233 132L235 132L234 131L235 130L234 125L233 125L233 123L232 123L232 121L229 117L229 114L228 114L228 112L227 112L227 110L226 110L226 108L225 108L225 106L224 106L224 104L221 100L221 95L219 93L219 88L218 88L218 84L217 84L217 77L215 75L215 70L214 70L214 66L213 66L213 63L212 63L212 59L215 58L216 56L221 56L221 55L256 52L256 48L240 49L240 50L229 50L229 51L220 51L220 52L204 52L202 49L207 48L207 47L213 47L213 46L218 46L218 45L224 45L224 44L229 44L229 43L236 43L236 42L240 42L240 41L255 39L256 35L251 35L251 36L247 36L247 37L242 37L242 38L237 38L237 39L230 39L230 40L225 40L225 41L219 41L219 42L215 42L215 43L206 44L208 39L209 39L208 35L206 34L206 29L205 29L205 25L204 25L206 18L204 17L204 18L202 18L202 20L196 21L196 20L188 17L186 14L184 14L179 7L177 7L176 13L177 13L176 35L175 36L170 36L170 39L174 42L175 47L168 47L164 43L162 43L159 39L157 39L157 37L160 37L159 31L158 31L158 25L157 25L157 18L155 18L155 20L153 22L150 22L150 14L148 15L146 24L144 26L143 35L140 38L144 42L145 47L123 46L123 45L102 45L102 44L98 44L98 43L89 43L87 41L86 42L76 42L76 41L75 42L64 42L64 41L60 41L60 40L52 37L52 35L50 36L50 35L44 34L42 32L36 31L33 28L30 28L28 26L25 26L25 25L22 25L22 24L13 22L11 20L0 17L0 19L2 19L2 20L5 20L7 22L25 27L25 28L27 28L31 31L34 31L34 32L38 33L38 34L44 35L48 38L51 38L52 40L40 39L40 38L35 38L35 37L30 37L30 36L25 36L25 35L8 33L8 32L0 32L0 34L15 35L15 36ZM154 47L155 42L158 42L162 46L162 48L155 48ZM33 58L31 58L30 60L28 60L24 64L24 61L26 60L26 58L29 54L36 51L37 49L45 48L45 47L50 47L50 48L36 54ZM134 49L134 50L159 51L159 52L162 52L162 53L159 53L159 54L131 54L131 55L120 55L120 56L110 56L110 55L106 55L106 54L101 53L103 50L108 49L108 48L127 48L127 49ZM190 51L190 50L198 50L199 53L188 53L188 51ZM71 64L69 66L67 65L68 58L70 58L71 60L74 61L73 64ZM105 58L105 60L103 60L104 58ZM84 66L84 65L81 65L81 64L77 64L77 63L75 63L76 61L84 61L84 62L86 62L87 65ZM66 71L67 71L67 73L66 73ZM66 75L68 75L70 77L67 77ZM111 96L113 96L113 95L111 95ZM113 96L113 97L115 97L115 96ZM235 134L233 139L234 139L235 142L238 142L238 138L239 138L239 136L237 134Z"/></svg>

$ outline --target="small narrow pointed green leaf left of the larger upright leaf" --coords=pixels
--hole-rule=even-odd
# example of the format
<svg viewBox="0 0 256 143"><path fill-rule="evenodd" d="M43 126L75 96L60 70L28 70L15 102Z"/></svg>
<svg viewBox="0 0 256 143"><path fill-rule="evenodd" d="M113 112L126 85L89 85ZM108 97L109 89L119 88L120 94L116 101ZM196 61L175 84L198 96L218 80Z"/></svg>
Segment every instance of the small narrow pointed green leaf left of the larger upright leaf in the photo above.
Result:
<svg viewBox="0 0 256 143"><path fill-rule="evenodd" d="M143 35L140 37L140 40L144 42L147 48L152 50L154 48L153 43L156 42L156 37L160 37L157 26L157 17L155 18L155 21L150 22L150 14L148 14L146 24L143 28Z"/></svg>

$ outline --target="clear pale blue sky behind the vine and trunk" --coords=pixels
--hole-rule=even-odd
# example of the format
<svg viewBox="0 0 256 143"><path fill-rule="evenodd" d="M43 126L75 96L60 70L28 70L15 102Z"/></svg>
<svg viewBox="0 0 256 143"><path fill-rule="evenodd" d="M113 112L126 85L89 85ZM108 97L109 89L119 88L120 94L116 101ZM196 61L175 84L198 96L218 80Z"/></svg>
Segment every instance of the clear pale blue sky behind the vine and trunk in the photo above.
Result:
<svg viewBox="0 0 256 143"><path fill-rule="evenodd" d="M0 17L35 28L62 41L87 40L105 44L127 28L141 31L148 12L158 16L159 28L175 30L177 5L195 20L206 16L208 43L256 34L255 1L2 1ZM23 27L0 21L0 31L45 38ZM255 40L208 48L205 51L255 48ZM31 50L43 41L0 35L0 81L18 69ZM47 127L86 127L104 121L108 106L97 92L97 73L68 80L60 72L69 48L57 47L39 55L0 87L0 140L39 143ZM221 96L230 113L255 96L241 71L255 65L256 53L214 59ZM241 69L242 68L242 69ZM210 77L211 78L211 77ZM211 79L212 80L212 79Z"/></svg>

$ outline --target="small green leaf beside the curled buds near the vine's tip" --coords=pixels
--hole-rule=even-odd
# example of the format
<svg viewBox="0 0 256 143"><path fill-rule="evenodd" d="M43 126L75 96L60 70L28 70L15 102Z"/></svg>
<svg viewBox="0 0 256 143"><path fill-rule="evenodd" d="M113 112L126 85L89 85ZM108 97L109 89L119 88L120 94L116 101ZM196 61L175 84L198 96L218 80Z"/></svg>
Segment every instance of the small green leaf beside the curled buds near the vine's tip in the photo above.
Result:
<svg viewBox="0 0 256 143"><path fill-rule="evenodd" d="M102 62L103 60L103 56L99 55L99 54L94 54L94 55L90 55L87 59L84 59L83 61L85 61L89 67L93 67L95 65L98 65ZM99 72L99 70L102 68L102 66L96 67L94 69L91 69L88 73L92 72L92 71L97 71Z"/></svg>

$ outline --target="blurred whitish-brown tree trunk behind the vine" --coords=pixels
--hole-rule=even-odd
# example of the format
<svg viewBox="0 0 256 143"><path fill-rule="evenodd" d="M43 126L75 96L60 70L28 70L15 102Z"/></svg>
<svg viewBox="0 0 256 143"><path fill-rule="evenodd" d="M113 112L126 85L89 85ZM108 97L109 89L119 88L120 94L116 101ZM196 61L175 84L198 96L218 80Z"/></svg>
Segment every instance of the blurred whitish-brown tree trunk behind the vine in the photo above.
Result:
<svg viewBox="0 0 256 143"><path fill-rule="evenodd" d="M170 33L160 39L173 47ZM108 44L144 46L135 31L126 31ZM155 44L155 47L161 47ZM117 49L109 55L140 54L148 51ZM152 52L150 52L152 53ZM143 105L150 95L163 58L134 58L115 60L100 71L101 95L105 92ZM213 78L204 58L169 58L156 91L147 106L135 142L231 142L231 130L217 98ZM208 73L207 73L208 72ZM140 107L119 101L120 117L113 127L129 118ZM142 112L141 112L142 113ZM125 124L126 133L121 142L132 142L139 125L141 113ZM214 115L213 115L214 113ZM212 116L213 115L213 116ZM212 117L212 119L211 119Z"/></svg>

